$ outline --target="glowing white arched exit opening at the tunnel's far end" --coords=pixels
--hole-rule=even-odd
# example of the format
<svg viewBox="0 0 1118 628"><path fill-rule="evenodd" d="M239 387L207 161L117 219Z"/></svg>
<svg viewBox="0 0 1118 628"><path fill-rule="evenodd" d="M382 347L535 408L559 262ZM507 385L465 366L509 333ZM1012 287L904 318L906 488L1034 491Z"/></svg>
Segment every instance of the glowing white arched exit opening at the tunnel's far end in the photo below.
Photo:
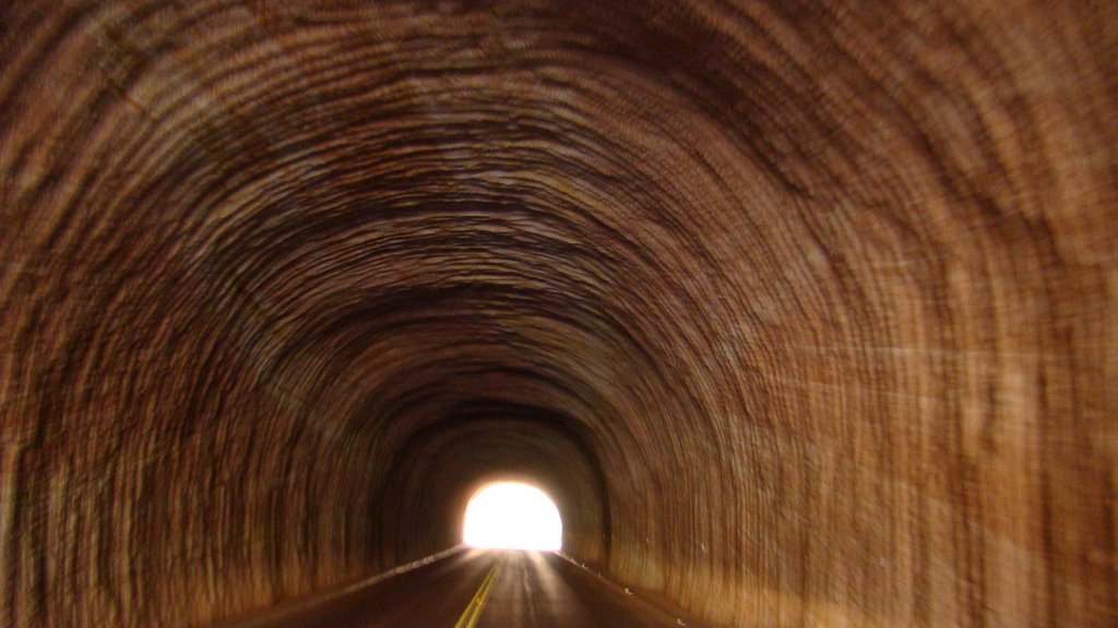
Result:
<svg viewBox="0 0 1118 628"><path fill-rule="evenodd" d="M495 482L470 498L462 541L472 548L553 552L562 548L562 521L539 488Z"/></svg>

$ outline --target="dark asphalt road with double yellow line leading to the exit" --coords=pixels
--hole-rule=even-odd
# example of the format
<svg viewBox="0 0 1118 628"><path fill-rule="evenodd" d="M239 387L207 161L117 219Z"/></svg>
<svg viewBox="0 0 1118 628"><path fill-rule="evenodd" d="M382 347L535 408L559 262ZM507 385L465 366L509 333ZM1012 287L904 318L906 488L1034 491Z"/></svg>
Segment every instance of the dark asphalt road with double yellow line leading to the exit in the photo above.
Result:
<svg viewBox="0 0 1118 628"><path fill-rule="evenodd" d="M551 553L463 550L237 628L664 628L676 618Z"/></svg>

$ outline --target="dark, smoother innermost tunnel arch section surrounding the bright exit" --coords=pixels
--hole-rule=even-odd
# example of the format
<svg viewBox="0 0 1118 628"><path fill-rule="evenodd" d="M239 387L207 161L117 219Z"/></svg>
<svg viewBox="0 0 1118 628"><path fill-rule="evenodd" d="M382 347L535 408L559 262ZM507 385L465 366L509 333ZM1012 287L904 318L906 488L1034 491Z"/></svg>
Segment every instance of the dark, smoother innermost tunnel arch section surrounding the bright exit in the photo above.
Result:
<svg viewBox="0 0 1118 628"><path fill-rule="evenodd" d="M563 521L562 544L591 564L608 560L609 495L597 455L569 419L538 407L477 400L417 431L400 455L383 499L396 513L381 523L388 553L407 548L410 531L426 537L396 562L415 560L462 539L462 513L481 487L506 479L539 486ZM409 501L400 503L400 497ZM430 534L430 531L437 531Z"/></svg>

